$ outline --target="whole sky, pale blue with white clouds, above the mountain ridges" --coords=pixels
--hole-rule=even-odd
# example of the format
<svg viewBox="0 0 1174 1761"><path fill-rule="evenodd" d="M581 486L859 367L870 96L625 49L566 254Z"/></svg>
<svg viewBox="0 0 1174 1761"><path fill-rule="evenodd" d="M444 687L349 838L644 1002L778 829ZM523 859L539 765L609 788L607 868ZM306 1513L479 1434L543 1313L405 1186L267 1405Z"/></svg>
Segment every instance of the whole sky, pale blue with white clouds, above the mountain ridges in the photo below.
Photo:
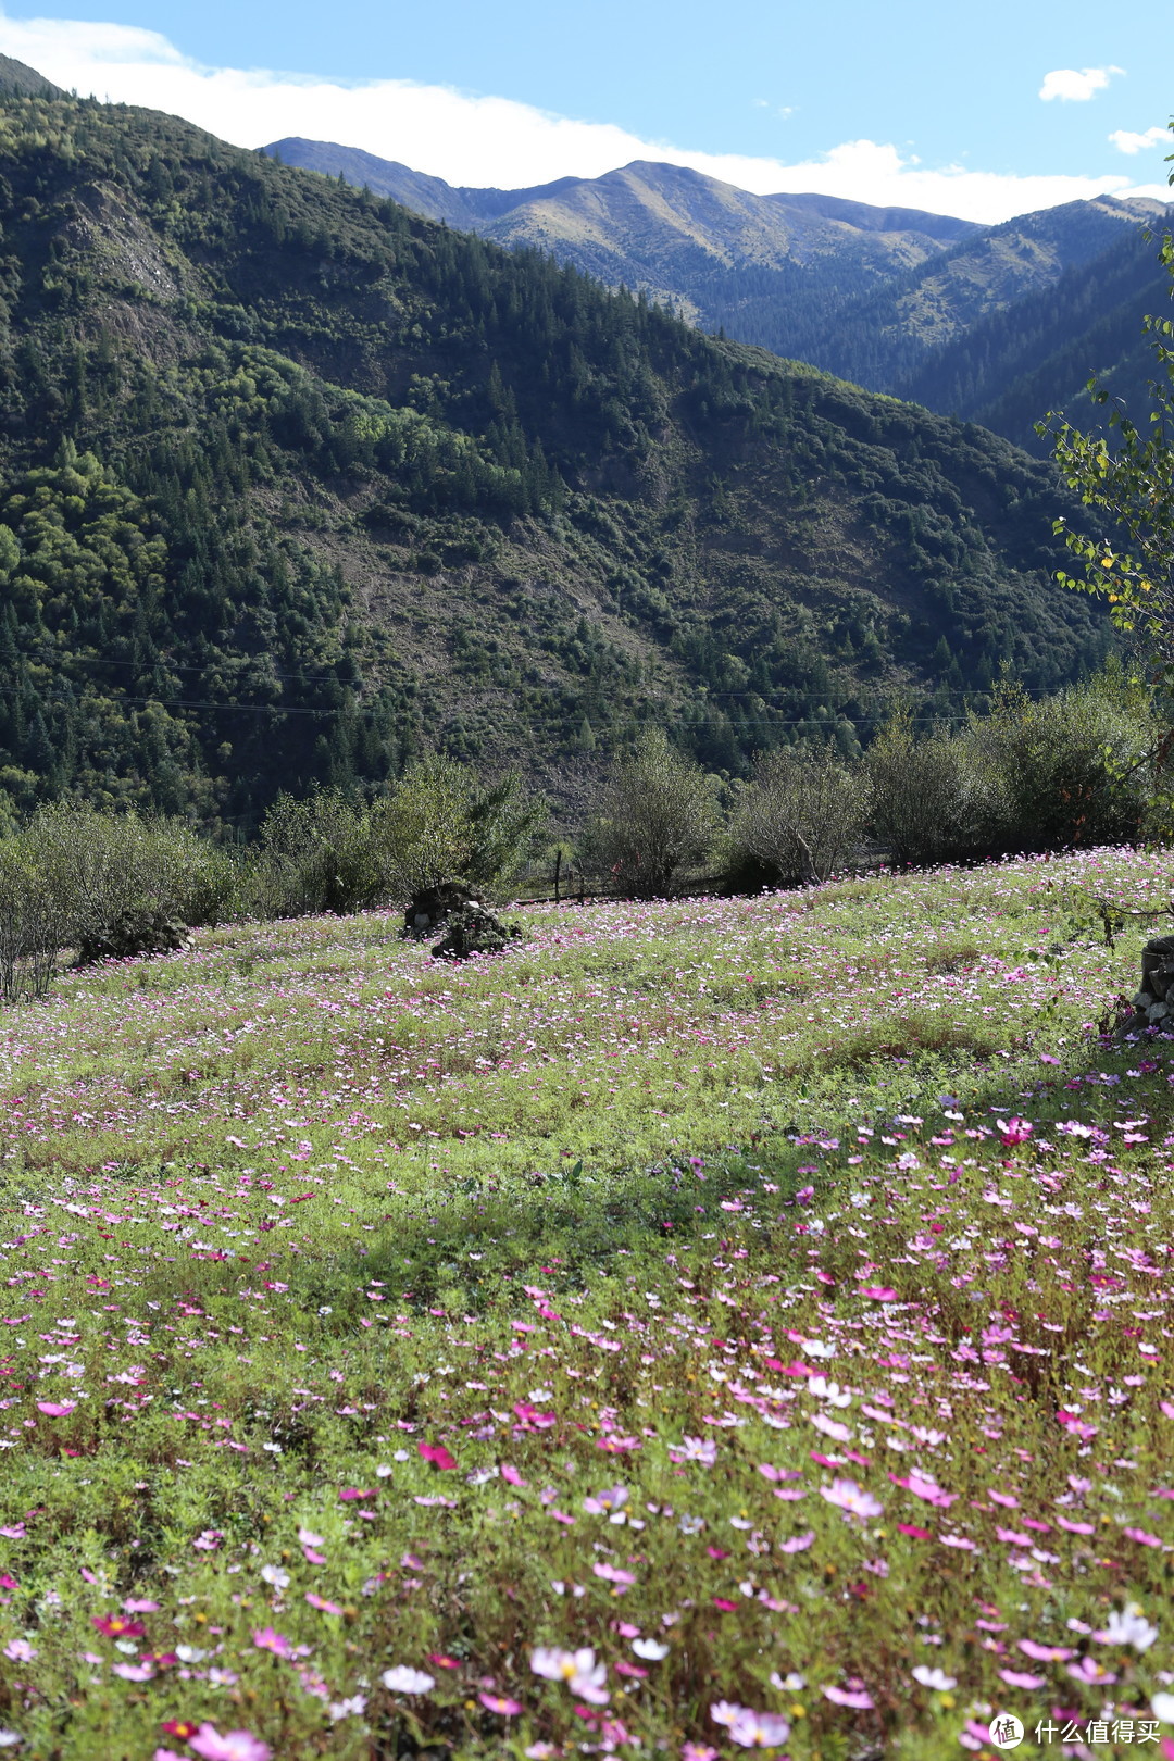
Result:
<svg viewBox="0 0 1174 1761"><path fill-rule="evenodd" d="M1165 0L62 0L0 51L243 146L338 139L463 183L671 158L1003 218L1167 192ZM1165 62L1165 65L1163 65Z"/></svg>

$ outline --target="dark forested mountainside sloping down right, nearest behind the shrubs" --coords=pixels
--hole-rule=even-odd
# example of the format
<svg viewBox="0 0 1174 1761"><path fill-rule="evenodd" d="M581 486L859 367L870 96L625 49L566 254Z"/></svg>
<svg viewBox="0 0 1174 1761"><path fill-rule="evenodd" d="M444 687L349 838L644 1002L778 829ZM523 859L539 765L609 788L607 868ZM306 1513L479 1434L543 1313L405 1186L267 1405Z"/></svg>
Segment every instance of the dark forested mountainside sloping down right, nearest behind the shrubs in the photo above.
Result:
<svg viewBox="0 0 1174 1761"><path fill-rule="evenodd" d="M977 426L176 118L2 120L11 807L246 828L428 748L567 801L646 722L739 773L1105 653Z"/></svg>

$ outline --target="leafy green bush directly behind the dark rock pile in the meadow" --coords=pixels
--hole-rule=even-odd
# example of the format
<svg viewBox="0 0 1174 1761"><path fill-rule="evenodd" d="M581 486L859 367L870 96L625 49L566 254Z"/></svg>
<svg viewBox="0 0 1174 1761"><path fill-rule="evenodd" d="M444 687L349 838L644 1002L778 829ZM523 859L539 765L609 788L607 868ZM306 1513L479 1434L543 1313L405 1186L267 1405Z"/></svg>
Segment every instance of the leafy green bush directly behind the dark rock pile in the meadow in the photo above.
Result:
<svg viewBox="0 0 1174 1761"><path fill-rule="evenodd" d="M426 759L371 810L371 840L389 898L405 903L442 880L500 893L525 866L546 807L517 771L484 789L454 759Z"/></svg>

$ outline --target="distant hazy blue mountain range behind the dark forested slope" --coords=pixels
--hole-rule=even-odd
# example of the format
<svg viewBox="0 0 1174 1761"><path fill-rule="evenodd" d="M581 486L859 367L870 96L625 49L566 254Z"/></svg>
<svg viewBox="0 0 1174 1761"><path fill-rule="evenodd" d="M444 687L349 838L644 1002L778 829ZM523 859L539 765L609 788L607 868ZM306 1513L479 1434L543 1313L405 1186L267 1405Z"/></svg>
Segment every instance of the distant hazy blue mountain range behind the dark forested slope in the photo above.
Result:
<svg viewBox="0 0 1174 1761"><path fill-rule="evenodd" d="M706 331L982 421L1033 451L1033 424L1053 407L1097 421L1082 387L1107 363L1121 389L1141 391L1149 354L1134 317L1165 296L1144 232L1174 210L1149 199L1104 195L975 225L831 195L752 195L679 166L475 190L326 141L266 151L549 250Z"/></svg>

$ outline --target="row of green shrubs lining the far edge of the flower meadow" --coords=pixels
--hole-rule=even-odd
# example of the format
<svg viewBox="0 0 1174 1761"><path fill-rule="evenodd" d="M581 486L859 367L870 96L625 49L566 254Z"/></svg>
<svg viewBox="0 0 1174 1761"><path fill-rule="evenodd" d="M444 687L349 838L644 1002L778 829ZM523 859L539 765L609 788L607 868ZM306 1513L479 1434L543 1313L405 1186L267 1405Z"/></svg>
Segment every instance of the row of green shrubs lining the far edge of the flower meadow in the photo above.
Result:
<svg viewBox="0 0 1174 1761"><path fill-rule="evenodd" d="M1119 669L1058 697L1002 685L989 715L917 729L898 715L862 757L801 743L730 789L662 731L611 764L576 865L595 893L664 898L818 884L878 861L979 861L1165 836L1163 743L1149 694ZM503 898L547 821L517 773L484 784L433 757L384 794L278 796L253 845L183 819L58 801L0 838L0 1000L40 997L62 960L176 947L188 926L403 907L442 882Z"/></svg>

